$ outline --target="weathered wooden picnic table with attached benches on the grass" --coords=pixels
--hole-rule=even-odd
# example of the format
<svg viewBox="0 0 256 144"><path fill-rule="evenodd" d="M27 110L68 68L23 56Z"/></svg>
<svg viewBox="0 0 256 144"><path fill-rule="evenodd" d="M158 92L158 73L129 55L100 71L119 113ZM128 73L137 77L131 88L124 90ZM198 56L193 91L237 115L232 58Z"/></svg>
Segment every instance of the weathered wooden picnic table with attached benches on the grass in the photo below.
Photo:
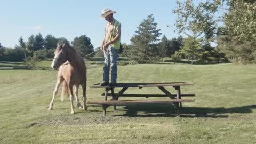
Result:
<svg viewBox="0 0 256 144"><path fill-rule="evenodd" d="M147 104L147 103L171 103L174 104L177 109L177 115L179 115L179 110L182 107L182 102L194 102L194 99L181 99L181 97L195 97L195 94L181 94L181 86L194 85L194 82L172 82L172 83L118 83L116 86L100 86L94 84L90 86L91 88L103 88L105 93L101 95L104 96L103 101L88 101L88 104L99 104L102 105L103 116L106 116L106 110L110 105L114 105L116 110L116 105L132 105L132 104ZM165 89L166 86L172 86L177 93L171 94ZM138 87L142 89L143 87L157 87L164 94L124 94L124 92L132 87ZM114 92L115 88L122 88L118 93ZM109 92L111 90L111 92ZM107 100L108 96L111 96L111 100ZM169 97L170 100L119 100L119 97Z"/></svg>

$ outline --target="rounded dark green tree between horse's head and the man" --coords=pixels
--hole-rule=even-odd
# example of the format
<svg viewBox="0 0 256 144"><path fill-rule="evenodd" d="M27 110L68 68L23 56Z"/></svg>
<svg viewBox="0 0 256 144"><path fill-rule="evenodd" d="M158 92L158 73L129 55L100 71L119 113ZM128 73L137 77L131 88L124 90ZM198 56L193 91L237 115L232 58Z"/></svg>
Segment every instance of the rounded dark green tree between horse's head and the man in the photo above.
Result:
<svg viewBox="0 0 256 144"><path fill-rule="evenodd" d="M86 37L86 35L75 37L71 44L82 58L85 58L85 55L94 51L91 39ZM90 57L93 57L93 54Z"/></svg>

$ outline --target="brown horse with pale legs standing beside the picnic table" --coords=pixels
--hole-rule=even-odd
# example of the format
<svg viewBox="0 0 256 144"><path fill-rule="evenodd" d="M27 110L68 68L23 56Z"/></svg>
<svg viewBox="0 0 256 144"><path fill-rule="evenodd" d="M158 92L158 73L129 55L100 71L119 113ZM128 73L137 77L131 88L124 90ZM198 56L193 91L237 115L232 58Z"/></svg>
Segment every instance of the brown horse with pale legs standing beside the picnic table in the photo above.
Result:
<svg viewBox="0 0 256 144"><path fill-rule="evenodd" d="M49 110L52 109L55 95L58 93L60 84L62 85L61 100L63 101L65 93L69 95L71 101L71 114L74 114L74 96L76 98L77 107L87 110L86 106L86 66L84 61L76 53L75 49L71 47L67 42L65 44L58 44L55 52L55 56L52 61L52 69L58 71L57 83L53 92L52 101L49 106ZM73 93L73 86L76 86L75 95ZM84 107L81 106L78 99L78 88L79 85L83 89L83 101Z"/></svg>

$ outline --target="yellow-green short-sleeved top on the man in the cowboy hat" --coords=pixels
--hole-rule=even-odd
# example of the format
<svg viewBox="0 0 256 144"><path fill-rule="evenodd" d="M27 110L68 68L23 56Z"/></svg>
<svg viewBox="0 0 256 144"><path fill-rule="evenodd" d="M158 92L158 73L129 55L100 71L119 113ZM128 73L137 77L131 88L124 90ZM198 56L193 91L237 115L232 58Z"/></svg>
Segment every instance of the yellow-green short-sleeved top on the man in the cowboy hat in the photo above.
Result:
<svg viewBox="0 0 256 144"><path fill-rule="evenodd" d="M110 35L113 33L113 27L114 27L114 24L116 22L116 19L113 18L113 20L111 22L107 22L107 25L106 25L106 35L105 35L105 43L109 42L109 39L110 39ZM116 31L116 35L119 35L121 36L121 25L118 27L117 31Z"/></svg>

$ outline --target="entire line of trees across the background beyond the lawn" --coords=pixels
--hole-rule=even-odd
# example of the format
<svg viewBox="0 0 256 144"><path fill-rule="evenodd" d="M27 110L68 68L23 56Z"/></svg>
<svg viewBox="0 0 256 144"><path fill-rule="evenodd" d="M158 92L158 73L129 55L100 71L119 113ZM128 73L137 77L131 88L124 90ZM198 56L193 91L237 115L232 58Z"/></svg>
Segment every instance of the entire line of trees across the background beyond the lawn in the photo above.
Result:
<svg viewBox="0 0 256 144"><path fill-rule="evenodd" d="M118 53L138 63L154 63L171 57L174 62L182 58L194 63L256 62L256 2L253 0L212 0L195 5L192 0L177 1L172 12L177 14L175 31L187 37L167 39L152 14L144 19L131 38L131 44L121 44ZM169 27L169 26L167 26ZM122 40L122 39L121 39ZM22 37L15 49L3 48L0 44L0 60L18 61L20 54L34 54L41 58L53 58L56 44L67 41L39 33L28 41ZM213 47L211 43L218 45ZM71 42L78 54L85 57L93 52L91 40L86 35ZM96 48L98 50L99 47ZM98 51L95 57L102 57Z"/></svg>

